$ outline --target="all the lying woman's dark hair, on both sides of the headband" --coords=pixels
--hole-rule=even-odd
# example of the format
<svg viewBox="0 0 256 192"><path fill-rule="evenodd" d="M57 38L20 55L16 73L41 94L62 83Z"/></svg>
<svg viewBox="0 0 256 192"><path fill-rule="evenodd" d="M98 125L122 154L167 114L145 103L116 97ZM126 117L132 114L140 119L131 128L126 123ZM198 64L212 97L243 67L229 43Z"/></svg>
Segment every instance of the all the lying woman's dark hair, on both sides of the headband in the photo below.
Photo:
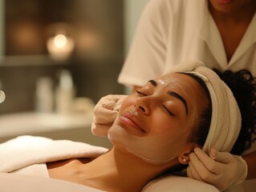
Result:
<svg viewBox="0 0 256 192"><path fill-rule="evenodd" d="M242 127L230 153L242 154L244 150L250 148L253 142L251 136L256 132L256 78L248 70L238 70L237 72L225 70L221 72L221 70L213 69L213 71L230 87L234 98L238 102L242 115ZM201 78L193 74L187 75L201 85L206 97L209 99L208 106L205 106L201 114L201 119L199 119L199 127L197 130L193 130L189 138L190 142L196 142L198 145L203 146L209 132L210 117L212 114L209 90Z"/></svg>

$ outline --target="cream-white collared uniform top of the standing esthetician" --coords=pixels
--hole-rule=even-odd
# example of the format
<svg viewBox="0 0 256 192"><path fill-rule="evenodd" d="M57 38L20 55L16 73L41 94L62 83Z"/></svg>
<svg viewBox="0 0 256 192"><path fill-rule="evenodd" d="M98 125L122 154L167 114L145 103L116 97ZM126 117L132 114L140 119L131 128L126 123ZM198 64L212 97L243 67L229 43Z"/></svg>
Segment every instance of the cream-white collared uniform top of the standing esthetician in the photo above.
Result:
<svg viewBox="0 0 256 192"><path fill-rule="evenodd" d="M256 76L256 14L230 62L207 0L151 0L141 15L118 82L143 86L173 65L201 60L209 68Z"/></svg>

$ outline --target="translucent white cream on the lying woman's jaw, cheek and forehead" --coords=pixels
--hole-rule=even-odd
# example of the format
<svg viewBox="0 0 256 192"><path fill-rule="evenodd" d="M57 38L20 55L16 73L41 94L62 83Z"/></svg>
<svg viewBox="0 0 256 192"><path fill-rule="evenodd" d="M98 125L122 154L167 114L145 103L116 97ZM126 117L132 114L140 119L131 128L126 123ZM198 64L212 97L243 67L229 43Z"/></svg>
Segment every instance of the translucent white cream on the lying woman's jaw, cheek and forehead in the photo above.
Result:
<svg viewBox="0 0 256 192"><path fill-rule="evenodd" d="M179 89L182 90L182 86L178 83L163 81L161 82L161 87L154 94L161 95L161 92L165 91L165 87L171 85L170 83L172 86L179 86ZM172 129L172 122L169 122L169 130L156 131L158 134L149 133L147 136L138 137L129 134L122 126L117 125L116 122L118 119L119 116L116 118L113 126L108 130L109 140L115 146L121 146L130 153L142 158L145 162L153 164L169 162L177 158L185 150L190 133L189 127L193 123L192 118L187 118L186 123L182 122L180 127ZM161 129L161 127L152 129L156 128Z"/></svg>

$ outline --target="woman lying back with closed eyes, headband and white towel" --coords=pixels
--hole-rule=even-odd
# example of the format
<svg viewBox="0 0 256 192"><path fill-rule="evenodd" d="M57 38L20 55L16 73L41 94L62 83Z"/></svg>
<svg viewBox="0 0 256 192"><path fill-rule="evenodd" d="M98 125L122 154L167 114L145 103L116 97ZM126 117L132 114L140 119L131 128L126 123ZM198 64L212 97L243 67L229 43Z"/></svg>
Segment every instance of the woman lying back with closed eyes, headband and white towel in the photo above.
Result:
<svg viewBox="0 0 256 192"><path fill-rule="evenodd" d="M255 82L246 71L226 74L242 82L242 87L232 86L236 95L201 62L180 65L124 99L108 130L112 149L20 137L0 145L0 171L36 172L99 190L130 192L183 170L195 147L208 154L212 147L241 154L256 122ZM244 89L251 90L246 98Z"/></svg>

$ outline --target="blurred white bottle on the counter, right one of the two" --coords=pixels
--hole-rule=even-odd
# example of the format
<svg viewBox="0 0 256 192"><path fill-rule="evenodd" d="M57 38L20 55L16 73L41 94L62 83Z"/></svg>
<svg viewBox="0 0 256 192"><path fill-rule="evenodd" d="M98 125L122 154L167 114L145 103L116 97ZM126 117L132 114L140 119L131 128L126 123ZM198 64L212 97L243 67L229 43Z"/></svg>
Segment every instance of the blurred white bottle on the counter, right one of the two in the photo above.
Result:
<svg viewBox="0 0 256 192"><path fill-rule="evenodd" d="M61 70L59 74L59 86L55 92L55 110L58 114L71 113L71 104L75 98L75 89L71 73Z"/></svg>

